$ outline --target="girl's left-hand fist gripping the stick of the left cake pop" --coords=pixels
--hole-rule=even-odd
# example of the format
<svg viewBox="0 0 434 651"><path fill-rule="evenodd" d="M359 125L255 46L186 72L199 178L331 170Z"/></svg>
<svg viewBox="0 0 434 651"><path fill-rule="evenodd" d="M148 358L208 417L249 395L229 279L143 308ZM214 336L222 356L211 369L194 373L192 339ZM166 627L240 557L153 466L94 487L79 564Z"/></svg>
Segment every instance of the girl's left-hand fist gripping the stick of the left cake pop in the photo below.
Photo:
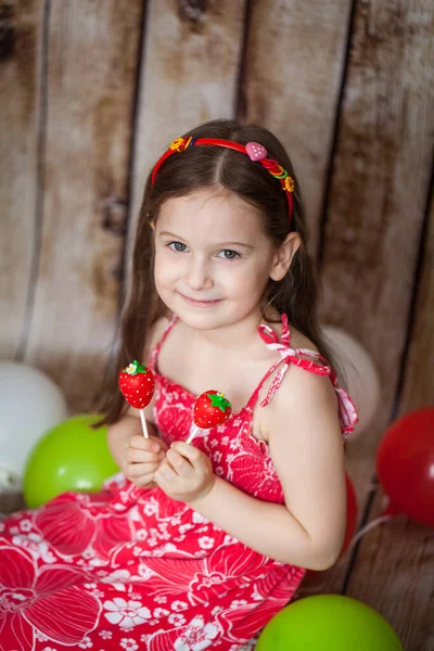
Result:
<svg viewBox="0 0 434 651"><path fill-rule="evenodd" d="M125 476L139 488L149 487L166 450L167 446L159 438L144 438L141 434L133 434L125 447Z"/></svg>

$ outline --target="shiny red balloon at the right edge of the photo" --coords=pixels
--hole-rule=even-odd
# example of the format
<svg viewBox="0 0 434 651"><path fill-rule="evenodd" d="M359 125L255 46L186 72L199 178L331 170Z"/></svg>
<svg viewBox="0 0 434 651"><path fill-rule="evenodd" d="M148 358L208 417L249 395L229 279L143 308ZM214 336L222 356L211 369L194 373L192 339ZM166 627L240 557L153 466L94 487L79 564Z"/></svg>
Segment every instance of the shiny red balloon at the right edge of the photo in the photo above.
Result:
<svg viewBox="0 0 434 651"><path fill-rule="evenodd" d="M376 472L390 498L387 512L434 526L434 408L407 413L384 434Z"/></svg>

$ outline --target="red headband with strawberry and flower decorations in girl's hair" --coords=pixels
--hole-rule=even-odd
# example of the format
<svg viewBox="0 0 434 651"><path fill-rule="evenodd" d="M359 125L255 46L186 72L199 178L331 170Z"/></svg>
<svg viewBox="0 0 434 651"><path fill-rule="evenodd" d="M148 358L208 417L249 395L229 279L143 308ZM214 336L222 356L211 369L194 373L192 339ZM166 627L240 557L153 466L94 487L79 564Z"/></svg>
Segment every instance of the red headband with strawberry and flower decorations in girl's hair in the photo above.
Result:
<svg viewBox="0 0 434 651"><path fill-rule="evenodd" d="M169 149L163 154L163 156L156 162L155 167L152 171L151 183L154 184L156 174L162 164L175 153L183 152L189 146L201 146L201 145L214 145L225 146L227 149L235 150L250 157L254 163L260 163L260 165L267 169L267 171L280 181L282 190L288 196L288 212L290 216L290 224L293 212L293 192L294 192L294 179L289 176L288 171L283 169L281 165L273 158L267 158L267 150L263 144L258 142L247 142L247 144L240 144L232 140L221 140L220 138L192 138L183 137L176 138Z"/></svg>

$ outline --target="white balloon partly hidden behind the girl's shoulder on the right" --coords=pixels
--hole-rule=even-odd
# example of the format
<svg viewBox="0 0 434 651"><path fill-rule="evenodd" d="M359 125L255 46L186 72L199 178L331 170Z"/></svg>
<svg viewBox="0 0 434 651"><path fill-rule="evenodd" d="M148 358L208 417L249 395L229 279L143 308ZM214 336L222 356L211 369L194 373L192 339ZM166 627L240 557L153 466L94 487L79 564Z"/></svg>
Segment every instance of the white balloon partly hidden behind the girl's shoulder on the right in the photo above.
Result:
<svg viewBox="0 0 434 651"><path fill-rule="evenodd" d="M380 404L380 378L374 362L363 346L340 328L322 328L330 348L344 373L346 390L356 405L359 421L348 438L355 438L372 422Z"/></svg>

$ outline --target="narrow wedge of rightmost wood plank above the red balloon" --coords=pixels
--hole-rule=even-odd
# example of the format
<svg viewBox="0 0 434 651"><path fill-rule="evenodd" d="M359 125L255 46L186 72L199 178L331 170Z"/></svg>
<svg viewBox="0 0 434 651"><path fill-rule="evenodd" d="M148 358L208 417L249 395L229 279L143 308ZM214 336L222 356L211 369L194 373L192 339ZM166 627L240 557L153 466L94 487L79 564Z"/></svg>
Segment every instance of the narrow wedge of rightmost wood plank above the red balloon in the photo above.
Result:
<svg viewBox="0 0 434 651"><path fill-rule="evenodd" d="M434 405L434 197L431 196L416 289L399 413Z"/></svg>

